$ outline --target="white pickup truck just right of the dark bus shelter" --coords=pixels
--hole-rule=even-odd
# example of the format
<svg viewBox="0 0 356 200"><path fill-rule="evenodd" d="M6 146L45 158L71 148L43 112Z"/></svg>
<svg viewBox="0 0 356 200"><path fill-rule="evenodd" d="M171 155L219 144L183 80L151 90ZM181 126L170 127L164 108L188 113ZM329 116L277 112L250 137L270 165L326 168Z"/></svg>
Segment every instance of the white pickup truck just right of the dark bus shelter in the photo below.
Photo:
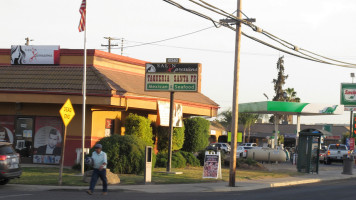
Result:
<svg viewBox="0 0 356 200"><path fill-rule="evenodd" d="M325 163L330 165L331 162L342 162L343 157L349 153L350 151L344 144L330 144L325 154Z"/></svg>

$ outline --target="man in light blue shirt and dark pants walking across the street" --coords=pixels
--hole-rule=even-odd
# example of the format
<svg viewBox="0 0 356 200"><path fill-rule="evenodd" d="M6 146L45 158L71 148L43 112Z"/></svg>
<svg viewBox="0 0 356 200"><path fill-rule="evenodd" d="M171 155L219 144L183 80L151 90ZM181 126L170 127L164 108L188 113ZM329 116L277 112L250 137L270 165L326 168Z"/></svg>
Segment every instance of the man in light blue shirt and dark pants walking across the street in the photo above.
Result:
<svg viewBox="0 0 356 200"><path fill-rule="evenodd" d="M95 151L91 158L93 159L93 174L91 175L90 187L87 193L92 195L98 178L100 177L103 182L103 195L108 193L108 180L106 178L106 165L108 163L106 153L102 151L102 145L96 144L94 146Z"/></svg>

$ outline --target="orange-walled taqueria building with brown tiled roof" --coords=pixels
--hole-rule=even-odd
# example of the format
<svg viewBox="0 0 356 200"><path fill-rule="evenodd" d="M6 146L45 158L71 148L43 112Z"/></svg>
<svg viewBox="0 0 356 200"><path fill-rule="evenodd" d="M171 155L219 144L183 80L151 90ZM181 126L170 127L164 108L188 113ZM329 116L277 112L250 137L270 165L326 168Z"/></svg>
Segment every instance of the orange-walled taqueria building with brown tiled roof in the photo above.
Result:
<svg viewBox="0 0 356 200"><path fill-rule="evenodd" d="M59 110L69 98L75 117L68 125L66 166L81 149L83 50L59 46L0 49L0 140L13 144L22 161L59 164L64 125ZM145 91L146 61L87 50L85 146L125 134L124 120L136 113L157 121L169 92ZM201 71L199 72L201 73ZM200 92L176 92L183 118L217 115L218 104Z"/></svg>

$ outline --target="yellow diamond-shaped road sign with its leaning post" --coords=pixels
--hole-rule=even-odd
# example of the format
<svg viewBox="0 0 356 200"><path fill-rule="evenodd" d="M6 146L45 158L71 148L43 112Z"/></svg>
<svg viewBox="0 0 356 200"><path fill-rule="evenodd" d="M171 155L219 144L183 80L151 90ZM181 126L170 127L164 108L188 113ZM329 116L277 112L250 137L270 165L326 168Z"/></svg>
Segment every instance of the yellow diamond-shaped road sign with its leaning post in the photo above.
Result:
<svg viewBox="0 0 356 200"><path fill-rule="evenodd" d="M63 146L62 146L62 155L61 155L61 166L59 168L59 180L58 180L58 184L62 185L62 173L63 173L63 164L64 164L64 150L66 147L67 126L75 115L75 112L74 112L72 103L70 102L70 99L67 99L67 101L64 103L62 108L59 110L59 113L61 114L61 117L62 117L62 120L64 123L64 136L63 136Z"/></svg>

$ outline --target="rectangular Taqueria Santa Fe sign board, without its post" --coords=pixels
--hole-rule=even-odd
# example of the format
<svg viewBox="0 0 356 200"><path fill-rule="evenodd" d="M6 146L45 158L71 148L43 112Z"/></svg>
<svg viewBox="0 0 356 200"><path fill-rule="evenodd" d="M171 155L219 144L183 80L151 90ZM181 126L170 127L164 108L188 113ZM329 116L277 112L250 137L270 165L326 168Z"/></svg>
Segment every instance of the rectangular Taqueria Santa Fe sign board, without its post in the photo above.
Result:
<svg viewBox="0 0 356 200"><path fill-rule="evenodd" d="M200 92L199 63L147 63L145 91Z"/></svg>

